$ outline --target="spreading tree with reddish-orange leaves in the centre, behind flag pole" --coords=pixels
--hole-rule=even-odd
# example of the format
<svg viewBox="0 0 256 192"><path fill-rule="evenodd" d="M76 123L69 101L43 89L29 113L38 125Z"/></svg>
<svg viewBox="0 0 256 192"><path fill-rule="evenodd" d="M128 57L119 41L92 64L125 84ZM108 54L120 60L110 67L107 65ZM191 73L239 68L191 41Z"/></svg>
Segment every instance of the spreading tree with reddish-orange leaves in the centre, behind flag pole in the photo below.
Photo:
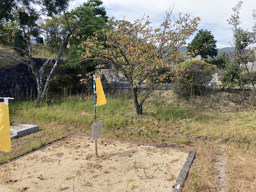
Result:
<svg viewBox="0 0 256 192"><path fill-rule="evenodd" d="M176 70L175 64L185 58L178 48L195 32L200 18L180 14L178 20L172 21L171 13L171 9L166 12L164 22L154 31L149 26L149 16L134 23L115 21L112 30L102 32L105 43L98 41L98 33L95 33L80 45L80 60L106 62L112 74L130 84L137 114L142 114L144 101L160 83L167 78L173 80L171 75L177 77L186 72ZM158 75L163 68L169 70ZM140 92L142 87L144 92Z"/></svg>

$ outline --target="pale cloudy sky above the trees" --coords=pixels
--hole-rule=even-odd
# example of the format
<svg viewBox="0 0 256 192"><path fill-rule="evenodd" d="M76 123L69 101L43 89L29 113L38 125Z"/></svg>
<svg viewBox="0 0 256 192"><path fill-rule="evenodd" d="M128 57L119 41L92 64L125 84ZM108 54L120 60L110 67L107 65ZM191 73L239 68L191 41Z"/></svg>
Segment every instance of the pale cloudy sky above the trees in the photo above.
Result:
<svg viewBox="0 0 256 192"><path fill-rule="evenodd" d="M158 28L164 21L165 11L173 6L172 18L178 18L178 14L190 13L192 17L200 17L201 21L198 30L211 31L217 41L217 48L230 47L232 43L232 26L227 20L234 12L232 8L238 0L102 0L102 6L107 12L107 16L118 20L141 19L144 15L150 17L151 27ZM71 7L82 5L84 0L74 0ZM240 27L251 31L254 25L252 10L256 9L255 0L244 0L240 10L242 23ZM189 43L194 35L190 36ZM254 45L255 46L255 45Z"/></svg>

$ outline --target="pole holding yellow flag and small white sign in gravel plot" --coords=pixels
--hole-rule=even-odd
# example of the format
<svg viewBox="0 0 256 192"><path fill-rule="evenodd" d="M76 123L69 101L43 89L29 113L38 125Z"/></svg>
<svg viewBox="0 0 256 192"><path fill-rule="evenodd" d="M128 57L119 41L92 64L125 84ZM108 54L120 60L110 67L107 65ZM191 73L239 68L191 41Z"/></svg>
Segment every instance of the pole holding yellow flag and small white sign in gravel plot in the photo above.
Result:
<svg viewBox="0 0 256 192"><path fill-rule="evenodd" d="M100 77L93 76L93 91L94 91L94 124L92 124L92 141L95 140L95 156L98 157L98 140L102 136L102 120L97 122L96 119L96 106L106 104L106 97L100 82ZM97 95L97 104L96 104Z"/></svg>

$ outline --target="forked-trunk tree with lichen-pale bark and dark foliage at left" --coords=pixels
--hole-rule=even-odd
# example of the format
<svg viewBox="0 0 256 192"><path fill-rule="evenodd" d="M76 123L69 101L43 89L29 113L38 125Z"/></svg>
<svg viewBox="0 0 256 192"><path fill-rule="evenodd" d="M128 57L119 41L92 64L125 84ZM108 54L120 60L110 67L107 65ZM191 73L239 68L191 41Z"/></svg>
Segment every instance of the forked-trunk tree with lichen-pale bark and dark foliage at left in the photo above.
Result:
<svg viewBox="0 0 256 192"><path fill-rule="evenodd" d="M40 9L36 9L36 7L40 7ZM16 14L15 18L17 18L17 24L22 32L22 34L19 35L23 36L28 45L27 50L21 47L16 47L16 49L21 50L24 54L26 54L26 62L19 61L11 55L6 55L6 58L11 58L17 62L26 64L28 67L32 69L32 72L37 82L38 103L43 102L45 100L50 80L54 75L56 66L58 66L60 62L60 58L62 56L64 48L67 46L70 36L74 32L74 30L76 30L78 24L81 22L85 14L84 12L74 14L73 11L66 13L65 10L67 7L68 0L4 0L3 6L0 8L0 19L6 18L13 20L14 16L12 14ZM62 18L66 24L65 30L62 31L64 38L62 41L62 45L59 48L59 53L54 65L52 66L50 73L45 76L44 69L49 64L50 58L46 60L46 62L38 70L36 68L36 61L32 56L32 44L30 40L32 36L36 37L39 34L38 20L40 20L40 18L42 18L43 16L53 16L54 14L60 13L62 13Z"/></svg>

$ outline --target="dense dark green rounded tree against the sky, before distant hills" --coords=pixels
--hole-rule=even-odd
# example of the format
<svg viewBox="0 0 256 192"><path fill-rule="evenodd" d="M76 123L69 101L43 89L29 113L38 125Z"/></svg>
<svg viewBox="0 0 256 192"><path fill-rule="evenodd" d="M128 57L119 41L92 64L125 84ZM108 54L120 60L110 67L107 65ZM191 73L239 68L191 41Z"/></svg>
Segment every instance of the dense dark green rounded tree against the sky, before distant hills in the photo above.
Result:
<svg viewBox="0 0 256 192"><path fill-rule="evenodd" d="M214 57L218 55L218 50L216 49L216 40L212 33L208 30L199 30L191 43L188 43L188 51L198 50L198 54L202 58L207 58L208 56Z"/></svg>

